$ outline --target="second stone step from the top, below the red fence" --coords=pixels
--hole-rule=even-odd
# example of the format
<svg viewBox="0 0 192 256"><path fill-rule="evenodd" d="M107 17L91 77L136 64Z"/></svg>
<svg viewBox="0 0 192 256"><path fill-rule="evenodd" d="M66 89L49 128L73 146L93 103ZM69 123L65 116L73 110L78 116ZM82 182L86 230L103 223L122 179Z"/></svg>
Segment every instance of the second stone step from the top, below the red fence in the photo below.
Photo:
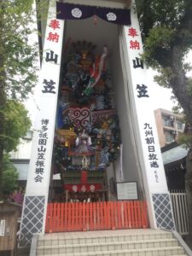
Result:
<svg viewBox="0 0 192 256"><path fill-rule="evenodd" d="M38 254L51 254L54 252L61 253L78 253L78 252L98 252L113 251L122 249L138 249L148 247L174 247L178 242L175 239L143 240L143 241L111 241L95 242L82 244L52 244L47 246L38 246Z"/></svg>

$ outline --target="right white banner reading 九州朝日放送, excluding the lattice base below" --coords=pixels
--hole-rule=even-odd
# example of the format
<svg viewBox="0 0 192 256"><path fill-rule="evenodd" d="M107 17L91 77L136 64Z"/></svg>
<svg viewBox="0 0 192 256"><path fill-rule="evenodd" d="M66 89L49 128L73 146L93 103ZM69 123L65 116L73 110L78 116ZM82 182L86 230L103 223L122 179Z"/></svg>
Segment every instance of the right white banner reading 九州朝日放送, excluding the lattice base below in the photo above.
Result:
<svg viewBox="0 0 192 256"><path fill-rule="evenodd" d="M124 26L125 47L127 49L128 66L130 67L129 84L131 97L137 120L137 131L140 135L143 160L150 183L151 192L167 192L166 176L160 153L160 143L154 120L151 84L146 78L146 67L141 55L143 43L138 25L137 15L131 11L131 26Z"/></svg>

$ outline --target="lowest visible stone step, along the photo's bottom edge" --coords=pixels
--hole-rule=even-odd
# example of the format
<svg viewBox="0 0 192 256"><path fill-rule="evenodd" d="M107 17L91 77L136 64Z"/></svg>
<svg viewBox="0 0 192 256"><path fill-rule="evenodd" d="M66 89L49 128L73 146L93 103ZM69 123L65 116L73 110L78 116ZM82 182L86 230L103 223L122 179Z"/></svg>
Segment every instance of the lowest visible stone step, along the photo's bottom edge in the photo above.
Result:
<svg viewBox="0 0 192 256"><path fill-rule="evenodd" d="M46 253L37 254L38 256L48 255ZM52 256L168 256L168 255L185 255L182 247L155 247L155 248L141 248L115 251L100 251L100 252L84 252L84 253L60 253L60 249Z"/></svg>

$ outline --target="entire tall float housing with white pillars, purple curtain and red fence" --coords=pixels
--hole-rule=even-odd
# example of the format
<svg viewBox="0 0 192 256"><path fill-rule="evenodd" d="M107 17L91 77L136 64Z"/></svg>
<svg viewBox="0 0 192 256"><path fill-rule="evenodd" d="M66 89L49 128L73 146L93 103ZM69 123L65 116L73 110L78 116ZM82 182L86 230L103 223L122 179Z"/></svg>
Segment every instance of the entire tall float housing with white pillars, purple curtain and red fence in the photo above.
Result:
<svg viewBox="0 0 192 256"><path fill-rule="evenodd" d="M148 220L174 229L135 5L87 2L53 0L42 23L41 101L20 231L26 245L44 231L146 228Z"/></svg>

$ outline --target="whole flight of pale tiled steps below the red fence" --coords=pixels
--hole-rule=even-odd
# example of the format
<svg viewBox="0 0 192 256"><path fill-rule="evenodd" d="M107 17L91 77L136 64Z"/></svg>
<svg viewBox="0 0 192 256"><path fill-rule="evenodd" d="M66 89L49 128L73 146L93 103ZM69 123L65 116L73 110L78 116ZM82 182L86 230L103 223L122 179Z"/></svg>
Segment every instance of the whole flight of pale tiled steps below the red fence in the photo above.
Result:
<svg viewBox="0 0 192 256"><path fill-rule="evenodd" d="M37 256L186 256L166 230L96 230L38 236Z"/></svg>

